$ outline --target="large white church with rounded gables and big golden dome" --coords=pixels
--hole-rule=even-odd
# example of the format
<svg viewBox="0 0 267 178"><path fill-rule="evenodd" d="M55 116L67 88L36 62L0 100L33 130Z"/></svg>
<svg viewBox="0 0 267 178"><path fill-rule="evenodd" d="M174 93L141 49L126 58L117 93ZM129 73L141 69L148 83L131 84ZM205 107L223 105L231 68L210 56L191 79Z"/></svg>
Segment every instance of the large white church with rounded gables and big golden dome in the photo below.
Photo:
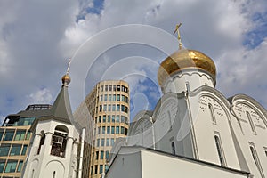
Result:
<svg viewBox="0 0 267 178"><path fill-rule="evenodd" d="M245 94L227 99L214 61L180 46L158 69L163 96L115 143L105 178L266 178L266 109Z"/></svg>

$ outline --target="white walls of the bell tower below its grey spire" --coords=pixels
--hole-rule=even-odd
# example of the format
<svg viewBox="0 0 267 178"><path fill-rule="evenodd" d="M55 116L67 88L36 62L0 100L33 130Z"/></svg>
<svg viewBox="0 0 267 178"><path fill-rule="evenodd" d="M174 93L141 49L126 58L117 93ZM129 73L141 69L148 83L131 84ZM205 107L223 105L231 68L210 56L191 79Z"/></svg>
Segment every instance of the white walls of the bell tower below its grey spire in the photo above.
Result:
<svg viewBox="0 0 267 178"><path fill-rule="evenodd" d="M24 177L76 177L78 139L73 125L55 120L39 121ZM55 148L55 144L62 148Z"/></svg>

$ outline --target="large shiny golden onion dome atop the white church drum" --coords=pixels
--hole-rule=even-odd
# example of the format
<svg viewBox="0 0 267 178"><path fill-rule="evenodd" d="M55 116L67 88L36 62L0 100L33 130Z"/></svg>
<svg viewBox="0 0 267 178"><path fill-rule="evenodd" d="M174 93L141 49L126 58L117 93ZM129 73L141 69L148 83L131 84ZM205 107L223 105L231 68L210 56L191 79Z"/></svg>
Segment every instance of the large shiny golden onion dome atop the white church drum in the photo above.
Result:
<svg viewBox="0 0 267 178"><path fill-rule="evenodd" d="M158 84L163 85L166 78L172 76L174 72L183 69L202 69L214 79L216 83L216 67L214 61L206 54L195 50L178 50L162 61L158 69Z"/></svg>

